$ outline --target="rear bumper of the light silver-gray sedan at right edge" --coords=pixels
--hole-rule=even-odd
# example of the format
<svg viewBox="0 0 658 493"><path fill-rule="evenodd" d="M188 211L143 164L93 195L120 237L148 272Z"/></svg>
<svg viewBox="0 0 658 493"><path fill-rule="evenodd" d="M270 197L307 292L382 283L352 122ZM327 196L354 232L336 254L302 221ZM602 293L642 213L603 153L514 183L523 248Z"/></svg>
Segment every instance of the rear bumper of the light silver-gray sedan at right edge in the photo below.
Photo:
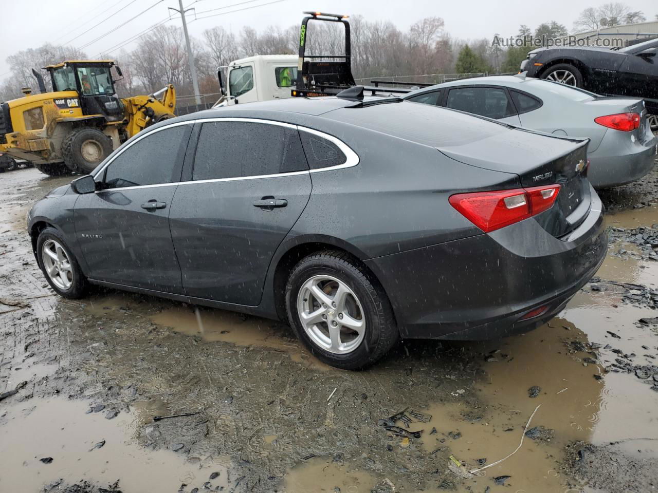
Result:
<svg viewBox="0 0 658 493"><path fill-rule="evenodd" d="M653 135L647 136L642 143L631 141L621 132L615 132L617 138L609 140L609 132L597 150L588 156L587 177L597 189L625 185L642 178L653 169L657 158L658 139Z"/></svg>

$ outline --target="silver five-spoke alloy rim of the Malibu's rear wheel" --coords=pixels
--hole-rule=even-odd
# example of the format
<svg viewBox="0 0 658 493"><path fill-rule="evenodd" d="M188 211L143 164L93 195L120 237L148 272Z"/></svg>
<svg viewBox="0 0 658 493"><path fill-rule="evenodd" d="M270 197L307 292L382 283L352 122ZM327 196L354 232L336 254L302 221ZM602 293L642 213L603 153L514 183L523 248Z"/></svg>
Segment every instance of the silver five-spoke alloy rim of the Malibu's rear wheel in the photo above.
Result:
<svg viewBox="0 0 658 493"><path fill-rule="evenodd" d="M336 277L315 275L308 279L297 294L297 314L313 344L328 352L352 352L365 337L361 302Z"/></svg>

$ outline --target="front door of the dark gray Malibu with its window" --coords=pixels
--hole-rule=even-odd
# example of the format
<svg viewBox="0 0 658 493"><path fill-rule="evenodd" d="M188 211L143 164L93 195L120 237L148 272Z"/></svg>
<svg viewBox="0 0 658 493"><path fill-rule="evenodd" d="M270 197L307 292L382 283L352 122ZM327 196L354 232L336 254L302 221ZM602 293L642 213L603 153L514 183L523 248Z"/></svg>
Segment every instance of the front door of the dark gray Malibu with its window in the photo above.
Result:
<svg viewBox="0 0 658 493"><path fill-rule="evenodd" d="M80 195L76 235L92 279L182 293L168 216L191 127L140 135L95 175L101 190Z"/></svg>

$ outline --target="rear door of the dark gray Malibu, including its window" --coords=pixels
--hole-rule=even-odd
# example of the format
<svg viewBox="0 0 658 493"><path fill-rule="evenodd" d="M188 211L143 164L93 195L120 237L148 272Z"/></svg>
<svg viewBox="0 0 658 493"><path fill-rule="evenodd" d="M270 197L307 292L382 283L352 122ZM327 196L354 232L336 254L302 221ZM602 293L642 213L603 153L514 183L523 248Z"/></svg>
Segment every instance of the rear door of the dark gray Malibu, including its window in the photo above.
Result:
<svg viewBox="0 0 658 493"><path fill-rule="evenodd" d="M191 180L176 189L171 233L186 294L257 306L274 252L311 195L293 125L204 120Z"/></svg>

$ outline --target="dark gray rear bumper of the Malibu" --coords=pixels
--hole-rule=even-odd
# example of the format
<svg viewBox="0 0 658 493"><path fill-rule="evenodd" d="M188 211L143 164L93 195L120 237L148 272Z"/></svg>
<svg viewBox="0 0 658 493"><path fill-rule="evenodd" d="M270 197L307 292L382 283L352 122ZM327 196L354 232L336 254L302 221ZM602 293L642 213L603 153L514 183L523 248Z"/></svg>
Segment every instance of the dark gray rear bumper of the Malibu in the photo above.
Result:
<svg viewBox="0 0 658 493"><path fill-rule="evenodd" d="M566 239L530 218L489 234L374 258L403 338L495 339L557 314L607 250L601 200ZM520 321L539 307L546 311Z"/></svg>

